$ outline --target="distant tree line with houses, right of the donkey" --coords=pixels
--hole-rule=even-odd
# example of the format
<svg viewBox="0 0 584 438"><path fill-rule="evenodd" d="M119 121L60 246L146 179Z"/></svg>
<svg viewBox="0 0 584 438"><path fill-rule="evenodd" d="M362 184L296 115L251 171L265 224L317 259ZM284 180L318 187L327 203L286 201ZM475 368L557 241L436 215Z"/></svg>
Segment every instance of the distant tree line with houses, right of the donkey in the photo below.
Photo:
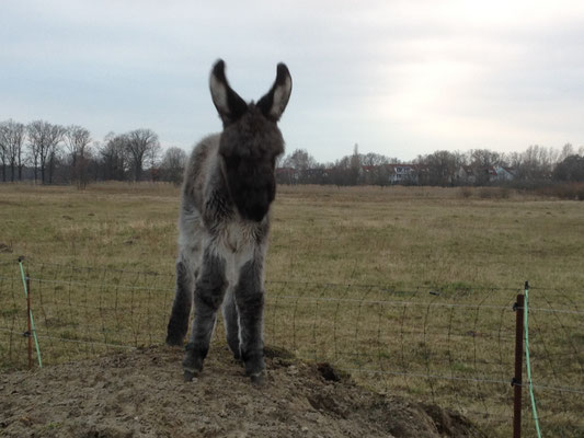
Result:
<svg viewBox="0 0 584 438"><path fill-rule="evenodd" d="M280 184L336 185L515 185L550 182L584 182L584 147L530 146L523 152L500 153L489 149L466 152L438 150L403 162L378 153L353 154L335 162L318 163L306 149L297 149L278 164Z"/></svg>

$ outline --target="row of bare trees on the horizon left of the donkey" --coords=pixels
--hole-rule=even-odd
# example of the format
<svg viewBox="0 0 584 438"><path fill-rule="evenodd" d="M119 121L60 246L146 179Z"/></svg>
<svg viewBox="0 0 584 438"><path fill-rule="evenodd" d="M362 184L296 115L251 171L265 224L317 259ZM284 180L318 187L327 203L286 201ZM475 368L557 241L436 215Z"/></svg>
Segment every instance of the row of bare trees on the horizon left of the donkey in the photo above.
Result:
<svg viewBox="0 0 584 438"><path fill-rule="evenodd" d="M0 122L2 182L33 180L39 184L96 181L182 181L186 152L178 147L162 152L158 135L147 128L107 134L94 140L81 126L46 120L24 125Z"/></svg>

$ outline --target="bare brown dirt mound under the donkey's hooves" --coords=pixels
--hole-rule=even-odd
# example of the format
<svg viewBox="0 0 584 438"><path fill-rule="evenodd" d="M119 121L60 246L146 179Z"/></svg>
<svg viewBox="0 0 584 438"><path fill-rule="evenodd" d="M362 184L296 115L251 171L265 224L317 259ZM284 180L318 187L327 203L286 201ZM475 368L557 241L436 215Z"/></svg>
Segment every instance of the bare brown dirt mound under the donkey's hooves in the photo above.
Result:
<svg viewBox="0 0 584 438"><path fill-rule="evenodd" d="M266 350L253 387L224 348L184 383L183 351L150 347L0 377L9 437L484 437L460 415L367 391L325 364Z"/></svg>

